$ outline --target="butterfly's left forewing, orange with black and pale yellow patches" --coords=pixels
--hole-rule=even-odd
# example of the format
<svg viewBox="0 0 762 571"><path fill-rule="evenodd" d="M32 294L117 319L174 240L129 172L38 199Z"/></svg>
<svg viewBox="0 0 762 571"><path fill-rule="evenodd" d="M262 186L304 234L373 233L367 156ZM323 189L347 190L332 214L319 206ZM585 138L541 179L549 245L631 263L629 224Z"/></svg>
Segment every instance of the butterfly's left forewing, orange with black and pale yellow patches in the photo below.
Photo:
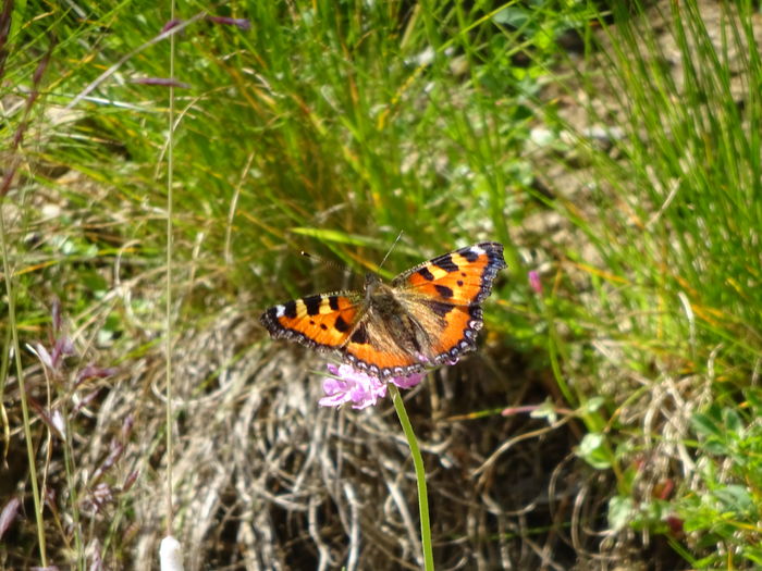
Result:
<svg viewBox="0 0 762 571"><path fill-rule="evenodd" d="M340 349L361 314L362 295L336 291L273 306L259 318L273 338L286 338L317 350Z"/></svg>

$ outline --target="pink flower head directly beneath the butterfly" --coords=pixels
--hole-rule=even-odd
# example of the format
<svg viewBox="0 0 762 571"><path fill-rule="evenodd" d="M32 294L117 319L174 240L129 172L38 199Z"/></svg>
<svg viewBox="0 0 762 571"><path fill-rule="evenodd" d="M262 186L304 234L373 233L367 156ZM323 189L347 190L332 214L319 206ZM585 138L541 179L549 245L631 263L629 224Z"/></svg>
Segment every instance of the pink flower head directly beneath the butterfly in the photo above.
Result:
<svg viewBox="0 0 762 571"><path fill-rule="evenodd" d="M352 408L365 409L374 406L379 398L386 396L386 381L358 371L349 364L336 367L329 363L328 372L332 376L323 380L325 396L319 401L321 407L340 407L352 402ZM400 388L410 388L420 383L423 376L425 373L414 373L408 376L395 376L390 378L390 382Z"/></svg>

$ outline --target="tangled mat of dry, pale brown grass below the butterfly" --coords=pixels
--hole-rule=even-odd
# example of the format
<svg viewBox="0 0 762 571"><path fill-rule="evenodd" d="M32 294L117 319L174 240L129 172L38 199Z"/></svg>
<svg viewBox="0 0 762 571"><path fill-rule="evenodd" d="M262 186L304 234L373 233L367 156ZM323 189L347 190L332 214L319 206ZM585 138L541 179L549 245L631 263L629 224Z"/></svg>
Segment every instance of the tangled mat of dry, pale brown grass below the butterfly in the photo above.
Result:
<svg viewBox="0 0 762 571"><path fill-rule="evenodd" d="M320 375L305 372L304 351L266 353L250 347L253 335L250 321L230 312L177 343L184 349L175 356L174 504L188 568L418 568L416 486L391 404L366 412L321 409ZM160 363L139 377L136 388L155 397L139 399L149 405L139 411L140 430L124 460L143 463L134 492L135 521L143 522L136 564L147 568L165 514L157 500L165 477L157 438ZM487 569L544 560L568 568L570 551L558 549L565 532L549 511L558 518L568 510L577 484L567 472L575 462L553 475L550 497L548 480L549 468L569 455L568 432L539 430L477 475L497 443L544 423L500 415L447 420L483 409L490 394L507 390L518 402L531 390L532 380L520 377L490 390L496 378L489 361L474 357L407 396L427 460L438 563L446 569L472 561ZM135 414L136 398L124 383L112 394L121 397L108 407L109 422Z"/></svg>

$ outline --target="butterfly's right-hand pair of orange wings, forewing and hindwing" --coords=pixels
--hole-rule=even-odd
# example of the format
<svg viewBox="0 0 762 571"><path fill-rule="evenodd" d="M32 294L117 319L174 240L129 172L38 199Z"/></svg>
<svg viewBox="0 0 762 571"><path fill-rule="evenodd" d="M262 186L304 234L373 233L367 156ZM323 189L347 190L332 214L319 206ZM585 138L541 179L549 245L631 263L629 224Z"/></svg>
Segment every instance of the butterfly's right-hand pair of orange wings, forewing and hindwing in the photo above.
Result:
<svg viewBox="0 0 762 571"><path fill-rule="evenodd" d="M483 325L480 303L504 268L503 245L486 241L439 256L394 278L400 303L428 333L427 358L442 363L476 347Z"/></svg>

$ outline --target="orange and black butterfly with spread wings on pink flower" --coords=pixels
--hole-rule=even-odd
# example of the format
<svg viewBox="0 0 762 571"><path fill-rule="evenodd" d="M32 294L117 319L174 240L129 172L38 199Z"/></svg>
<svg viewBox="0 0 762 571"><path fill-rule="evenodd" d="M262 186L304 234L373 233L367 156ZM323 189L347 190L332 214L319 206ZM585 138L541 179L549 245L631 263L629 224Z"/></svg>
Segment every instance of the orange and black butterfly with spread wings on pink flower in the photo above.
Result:
<svg viewBox="0 0 762 571"><path fill-rule="evenodd" d="M364 291L271 307L260 322L273 338L337 351L379 378L407 376L476 349L481 302L504 268L503 245L484 241L416 265L389 285L367 274Z"/></svg>

